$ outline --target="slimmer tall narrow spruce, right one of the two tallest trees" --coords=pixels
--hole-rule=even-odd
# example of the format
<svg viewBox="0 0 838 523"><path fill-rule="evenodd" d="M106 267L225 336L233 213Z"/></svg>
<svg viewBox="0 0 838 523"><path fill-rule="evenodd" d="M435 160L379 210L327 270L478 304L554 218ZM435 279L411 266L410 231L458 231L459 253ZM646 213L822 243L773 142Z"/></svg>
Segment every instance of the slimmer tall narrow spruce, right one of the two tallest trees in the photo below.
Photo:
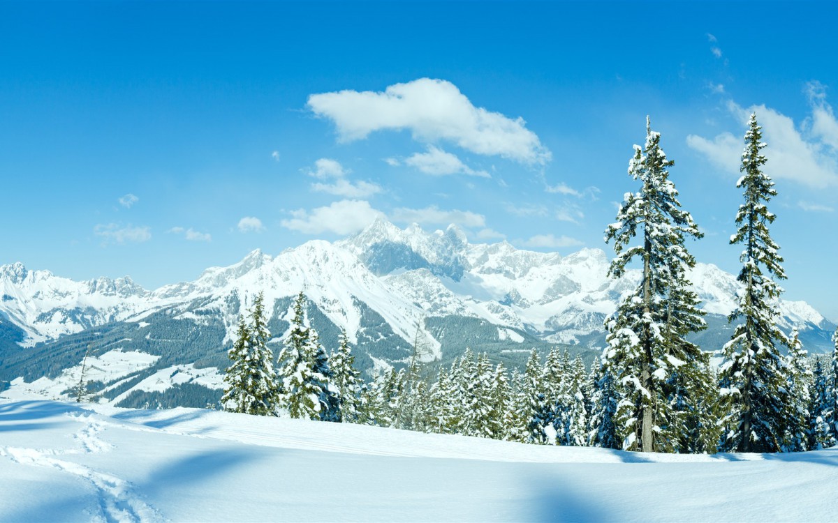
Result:
<svg viewBox="0 0 838 523"><path fill-rule="evenodd" d="M742 152L744 173L737 187L745 203L736 216L737 233L731 244L742 244L739 259L742 284L737 308L728 316L737 321L731 340L723 347L722 397L727 403L727 428L722 449L737 452L779 452L786 429L786 360L779 344L789 340L777 326L777 299L782 293L774 279L785 279L779 246L768 233L776 216L766 203L777 195L774 183L762 168L768 161L757 115L752 114Z"/></svg>

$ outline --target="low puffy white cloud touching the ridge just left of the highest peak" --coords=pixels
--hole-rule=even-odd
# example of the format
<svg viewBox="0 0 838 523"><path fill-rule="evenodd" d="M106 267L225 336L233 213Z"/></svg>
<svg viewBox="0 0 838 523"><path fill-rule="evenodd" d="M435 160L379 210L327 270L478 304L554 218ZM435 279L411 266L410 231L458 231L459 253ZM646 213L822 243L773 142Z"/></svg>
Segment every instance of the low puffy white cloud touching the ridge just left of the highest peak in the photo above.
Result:
<svg viewBox="0 0 838 523"><path fill-rule="evenodd" d="M375 218L385 218L384 213L371 208L364 200L341 200L311 211L298 209L291 215L292 218L282 220L282 227L305 234L357 233Z"/></svg>

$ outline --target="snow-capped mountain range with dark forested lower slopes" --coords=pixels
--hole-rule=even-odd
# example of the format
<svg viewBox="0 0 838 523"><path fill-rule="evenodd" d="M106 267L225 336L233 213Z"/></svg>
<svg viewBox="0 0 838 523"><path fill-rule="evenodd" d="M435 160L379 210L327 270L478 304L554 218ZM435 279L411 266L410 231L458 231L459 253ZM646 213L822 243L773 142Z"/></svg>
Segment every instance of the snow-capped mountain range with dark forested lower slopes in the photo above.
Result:
<svg viewBox="0 0 838 523"><path fill-rule="evenodd" d="M172 387L207 387L213 379L198 371L225 367L238 315L246 314L258 292L265 294L277 341L287 331L293 297L303 291L324 345L334 346L345 329L356 363L366 369L403 363L417 336L427 360L450 361L471 346L517 364L530 348L555 343L592 355L603 346L603 319L639 281L632 271L608 278L608 263L601 249L562 257L506 242L469 244L454 225L428 233L376 220L334 244L314 240L273 257L256 250L237 264L158 290L143 290L128 277L76 282L5 265L0 379L58 379L65 372L65 387L72 381L67 372L80 372L72 369L80 369L90 345L101 361L157 356L142 356L144 367L128 372L137 387L145 383L140 390L146 393L157 390L147 383L152 377ZM691 281L710 324L696 341L716 349L729 336L725 315L739 285L711 264L697 264ZM797 327L810 351L829 350L835 326L804 302L781 301L780 308L782 326ZM108 351L120 352L101 359ZM127 378L107 376L114 397L124 399L131 387L116 383ZM199 377L203 381L193 381ZM54 383L49 387L58 390Z"/></svg>

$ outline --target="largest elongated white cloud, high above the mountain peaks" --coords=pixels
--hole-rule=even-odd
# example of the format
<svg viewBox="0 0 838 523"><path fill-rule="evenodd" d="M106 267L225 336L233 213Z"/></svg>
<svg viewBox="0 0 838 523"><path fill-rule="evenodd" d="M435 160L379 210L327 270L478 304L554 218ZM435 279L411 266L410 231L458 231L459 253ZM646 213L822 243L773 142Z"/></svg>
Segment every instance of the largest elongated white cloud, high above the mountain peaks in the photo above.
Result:
<svg viewBox="0 0 838 523"><path fill-rule="evenodd" d="M551 152L521 118L475 107L456 85L422 78L384 92L342 90L308 97L315 115L334 121L339 141L362 140L374 131L411 131L423 143L448 141L481 155L545 164Z"/></svg>

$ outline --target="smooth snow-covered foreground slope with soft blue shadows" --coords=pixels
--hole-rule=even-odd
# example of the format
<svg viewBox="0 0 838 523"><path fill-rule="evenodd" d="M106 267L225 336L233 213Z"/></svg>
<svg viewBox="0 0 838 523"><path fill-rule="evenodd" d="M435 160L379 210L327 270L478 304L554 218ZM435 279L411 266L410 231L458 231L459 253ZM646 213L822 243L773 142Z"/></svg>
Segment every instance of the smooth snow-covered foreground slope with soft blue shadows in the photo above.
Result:
<svg viewBox="0 0 838 523"><path fill-rule="evenodd" d="M835 485L838 449L647 455L0 399L2 521L834 521Z"/></svg>

